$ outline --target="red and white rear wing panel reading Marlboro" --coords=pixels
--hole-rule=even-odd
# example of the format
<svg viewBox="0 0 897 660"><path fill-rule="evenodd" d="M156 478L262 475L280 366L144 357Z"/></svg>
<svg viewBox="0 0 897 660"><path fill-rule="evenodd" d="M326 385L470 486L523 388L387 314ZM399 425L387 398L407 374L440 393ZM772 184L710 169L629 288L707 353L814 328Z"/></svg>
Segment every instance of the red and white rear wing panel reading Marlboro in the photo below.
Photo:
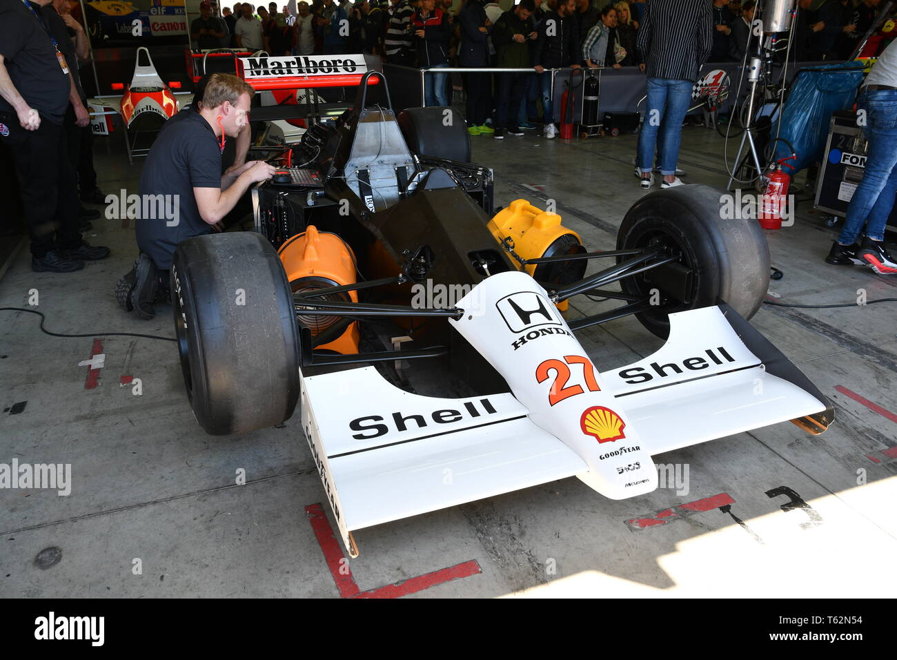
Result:
<svg viewBox="0 0 897 660"><path fill-rule="evenodd" d="M258 91L309 87L357 87L369 70L364 55L239 57L239 77ZM371 76L368 84L378 84Z"/></svg>

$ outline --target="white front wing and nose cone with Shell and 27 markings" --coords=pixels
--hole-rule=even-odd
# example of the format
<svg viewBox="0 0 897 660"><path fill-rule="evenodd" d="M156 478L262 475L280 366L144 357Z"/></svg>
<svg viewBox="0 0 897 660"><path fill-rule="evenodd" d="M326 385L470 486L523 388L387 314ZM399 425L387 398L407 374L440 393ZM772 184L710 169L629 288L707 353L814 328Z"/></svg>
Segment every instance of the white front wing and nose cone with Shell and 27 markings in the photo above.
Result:
<svg viewBox="0 0 897 660"><path fill-rule="evenodd" d="M402 391L367 366L302 378L302 425L346 549L375 524L577 476L605 497L657 488L652 456L791 420L823 394L726 304L670 315L663 348L599 372L524 273L475 286L452 322L511 393Z"/></svg>

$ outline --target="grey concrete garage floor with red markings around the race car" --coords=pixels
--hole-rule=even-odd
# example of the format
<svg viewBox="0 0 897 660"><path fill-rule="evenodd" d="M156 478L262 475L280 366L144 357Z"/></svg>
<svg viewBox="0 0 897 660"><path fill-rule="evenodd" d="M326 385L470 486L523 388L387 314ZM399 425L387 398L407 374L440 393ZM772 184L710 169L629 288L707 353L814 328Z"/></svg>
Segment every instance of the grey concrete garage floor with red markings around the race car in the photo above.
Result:
<svg viewBox="0 0 897 660"><path fill-rule="evenodd" d="M474 138L475 162L495 170L496 205L555 200L588 248L611 249L644 194L632 172L636 137L565 142L534 133ZM113 142L97 142L101 187L136 193L143 161L129 167ZM688 183L725 187L722 145L715 131L684 129ZM771 300L897 295L897 278L823 262L834 233L811 208L801 201L794 226L766 233L785 271L771 282ZM113 297L135 259L133 221L93 224L86 237L109 245L109 259L71 275L38 274L25 247L0 281L0 306L27 307L36 291L32 308L49 330L93 333L49 337L33 315L0 312L0 463L71 467L67 496L0 488L2 596L894 593L897 576L886 566L897 553L895 304L764 305L754 317L832 399L837 418L822 436L783 423L658 455L670 478L642 497L613 501L567 479L362 530L347 577L298 413L283 427L206 436L173 344L103 336L170 337L173 328L170 307L139 321ZM612 304L579 296L574 306ZM634 318L578 334L601 370L660 345Z"/></svg>

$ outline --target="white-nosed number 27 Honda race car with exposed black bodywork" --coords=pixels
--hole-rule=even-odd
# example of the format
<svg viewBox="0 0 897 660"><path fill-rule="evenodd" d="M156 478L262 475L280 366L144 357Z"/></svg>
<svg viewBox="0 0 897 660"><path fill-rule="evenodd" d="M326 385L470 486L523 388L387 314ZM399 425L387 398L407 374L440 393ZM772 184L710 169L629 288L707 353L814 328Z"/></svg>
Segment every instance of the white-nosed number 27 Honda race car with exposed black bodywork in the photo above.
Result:
<svg viewBox="0 0 897 660"><path fill-rule="evenodd" d="M657 487L658 453L787 420L828 427L823 394L745 321L769 252L755 222L720 220L718 192L640 198L615 249L588 252L525 200L492 214L464 120L396 118L385 81L369 106L371 75L352 109L305 133L292 191L257 190L256 232L190 239L171 268L196 419L242 433L301 399L352 556L352 532L371 525L570 476L633 497ZM430 295L447 289L458 299ZM586 294L623 305L564 318ZM663 348L631 365L589 356L576 332L628 314ZM379 337L401 349L367 350ZM398 358L461 391L396 386Z"/></svg>

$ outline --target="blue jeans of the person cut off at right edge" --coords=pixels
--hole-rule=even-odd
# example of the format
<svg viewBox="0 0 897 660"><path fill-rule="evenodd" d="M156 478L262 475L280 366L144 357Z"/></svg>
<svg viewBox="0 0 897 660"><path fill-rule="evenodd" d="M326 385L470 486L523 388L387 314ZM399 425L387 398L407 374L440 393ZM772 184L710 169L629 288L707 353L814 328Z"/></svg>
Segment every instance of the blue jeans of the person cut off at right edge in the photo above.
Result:
<svg viewBox="0 0 897 660"><path fill-rule="evenodd" d="M897 90L862 92L857 105L859 110L866 110L863 132L869 151L863 180L850 198L844 228L838 236L843 245L857 242L864 224L869 238L884 241L884 224L897 194Z"/></svg>

